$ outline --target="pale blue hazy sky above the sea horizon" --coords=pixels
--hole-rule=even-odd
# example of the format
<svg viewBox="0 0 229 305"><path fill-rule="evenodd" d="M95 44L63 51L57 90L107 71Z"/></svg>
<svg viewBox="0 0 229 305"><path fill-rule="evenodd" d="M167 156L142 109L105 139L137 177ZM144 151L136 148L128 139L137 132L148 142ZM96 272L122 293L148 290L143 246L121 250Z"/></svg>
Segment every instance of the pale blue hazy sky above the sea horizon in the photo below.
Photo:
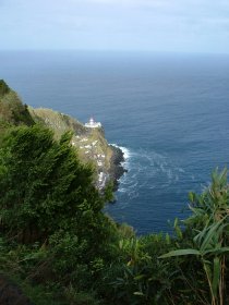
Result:
<svg viewBox="0 0 229 305"><path fill-rule="evenodd" d="M229 0L0 0L0 49L229 53Z"/></svg>

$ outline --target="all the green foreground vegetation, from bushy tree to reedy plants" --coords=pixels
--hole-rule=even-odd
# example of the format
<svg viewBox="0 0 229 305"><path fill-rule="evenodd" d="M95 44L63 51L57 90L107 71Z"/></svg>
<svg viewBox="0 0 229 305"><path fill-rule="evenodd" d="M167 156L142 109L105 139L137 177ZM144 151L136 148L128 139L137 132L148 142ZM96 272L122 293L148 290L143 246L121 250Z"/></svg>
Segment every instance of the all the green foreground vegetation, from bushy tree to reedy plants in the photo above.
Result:
<svg viewBox="0 0 229 305"><path fill-rule="evenodd" d="M3 83L1 93L9 95ZM229 304L227 170L190 193L190 217L176 219L173 235L137 237L104 215L110 190L96 190L71 133L9 118L0 133L0 285L7 277L37 305Z"/></svg>

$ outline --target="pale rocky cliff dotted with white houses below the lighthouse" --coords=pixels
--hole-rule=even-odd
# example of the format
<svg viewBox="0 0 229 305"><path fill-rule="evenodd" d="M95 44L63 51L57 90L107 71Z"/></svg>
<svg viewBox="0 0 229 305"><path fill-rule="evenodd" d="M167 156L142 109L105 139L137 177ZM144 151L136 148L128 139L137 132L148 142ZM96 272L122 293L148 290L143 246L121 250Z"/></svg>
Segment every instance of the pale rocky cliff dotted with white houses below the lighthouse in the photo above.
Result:
<svg viewBox="0 0 229 305"><path fill-rule="evenodd" d="M29 107L28 111L35 122L40 122L53 130L57 138L60 138L64 132L71 131L72 145L77 150L81 160L93 163L95 168L97 187L103 190L111 181L113 188L117 190L118 180L124 172L121 166L123 152L107 143L103 127L86 127L70 115L51 109Z"/></svg>

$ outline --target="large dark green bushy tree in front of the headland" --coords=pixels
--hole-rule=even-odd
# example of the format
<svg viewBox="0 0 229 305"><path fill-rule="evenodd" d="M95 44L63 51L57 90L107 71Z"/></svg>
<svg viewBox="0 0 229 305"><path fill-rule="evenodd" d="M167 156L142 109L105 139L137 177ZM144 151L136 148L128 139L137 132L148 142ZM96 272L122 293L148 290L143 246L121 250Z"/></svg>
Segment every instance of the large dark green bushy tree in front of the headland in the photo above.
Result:
<svg viewBox="0 0 229 305"><path fill-rule="evenodd" d="M0 218L10 236L44 242L58 230L79 239L101 233L105 198L70 144L39 125L11 130L0 149ZM91 232L94 234L91 234ZM96 234L97 233L97 234Z"/></svg>

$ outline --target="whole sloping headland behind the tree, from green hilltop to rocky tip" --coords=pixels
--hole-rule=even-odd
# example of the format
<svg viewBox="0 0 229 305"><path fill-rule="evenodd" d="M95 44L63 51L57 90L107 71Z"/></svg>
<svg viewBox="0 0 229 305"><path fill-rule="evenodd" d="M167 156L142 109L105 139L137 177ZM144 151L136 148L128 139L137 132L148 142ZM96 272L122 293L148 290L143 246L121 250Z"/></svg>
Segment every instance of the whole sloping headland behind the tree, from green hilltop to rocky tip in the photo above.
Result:
<svg viewBox="0 0 229 305"><path fill-rule="evenodd" d="M81 122L51 109L35 109L23 105L17 94L8 84L0 81L0 131L12 125L33 125L39 123L55 132L60 139L65 132L72 133L72 146L75 147L84 163L92 163L95 169L95 182L98 188L112 181L114 188L123 174L121 167L123 154L106 141L103 127L85 127Z"/></svg>

